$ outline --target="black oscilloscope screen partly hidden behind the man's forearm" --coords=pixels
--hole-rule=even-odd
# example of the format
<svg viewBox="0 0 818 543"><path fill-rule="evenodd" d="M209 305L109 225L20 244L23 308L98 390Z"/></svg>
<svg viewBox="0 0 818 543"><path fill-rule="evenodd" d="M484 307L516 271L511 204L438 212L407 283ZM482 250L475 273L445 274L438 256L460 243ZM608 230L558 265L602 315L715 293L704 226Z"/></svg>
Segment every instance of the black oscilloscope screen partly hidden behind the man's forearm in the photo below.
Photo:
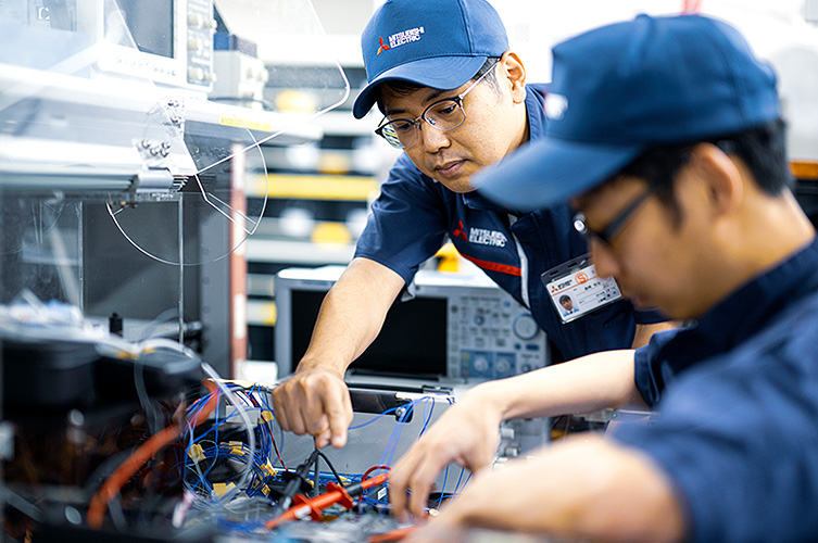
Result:
<svg viewBox="0 0 818 543"><path fill-rule="evenodd" d="M292 367L306 352L326 292L293 290ZM389 310L378 338L350 366L356 374L437 378L446 371L446 301L416 298Z"/></svg>

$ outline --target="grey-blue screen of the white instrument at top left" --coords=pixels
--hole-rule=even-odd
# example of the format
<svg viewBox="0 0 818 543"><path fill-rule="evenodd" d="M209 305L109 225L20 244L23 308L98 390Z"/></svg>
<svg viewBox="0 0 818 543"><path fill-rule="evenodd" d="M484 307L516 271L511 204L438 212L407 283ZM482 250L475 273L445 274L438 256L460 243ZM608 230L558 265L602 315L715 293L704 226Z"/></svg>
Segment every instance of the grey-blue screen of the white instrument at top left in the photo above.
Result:
<svg viewBox="0 0 818 543"><path fill-rule="evenodd" d="M116 0L137 48L173 59L174 0Z"/></svg>

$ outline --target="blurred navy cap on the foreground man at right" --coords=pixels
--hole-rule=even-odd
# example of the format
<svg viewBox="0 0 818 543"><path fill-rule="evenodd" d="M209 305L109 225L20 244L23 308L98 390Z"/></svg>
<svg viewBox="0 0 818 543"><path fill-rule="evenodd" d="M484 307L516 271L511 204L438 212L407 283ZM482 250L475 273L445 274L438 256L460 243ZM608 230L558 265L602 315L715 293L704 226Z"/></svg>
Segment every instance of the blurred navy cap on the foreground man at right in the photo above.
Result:
<svg viewBox="0 0 818 543"><path fill-rule="evenodd" d="M553 48L549 128L473 177L520 211L562 203L649 148L694 142L780 115L776 75L732 26L701 15L603 26Z"/></svg>

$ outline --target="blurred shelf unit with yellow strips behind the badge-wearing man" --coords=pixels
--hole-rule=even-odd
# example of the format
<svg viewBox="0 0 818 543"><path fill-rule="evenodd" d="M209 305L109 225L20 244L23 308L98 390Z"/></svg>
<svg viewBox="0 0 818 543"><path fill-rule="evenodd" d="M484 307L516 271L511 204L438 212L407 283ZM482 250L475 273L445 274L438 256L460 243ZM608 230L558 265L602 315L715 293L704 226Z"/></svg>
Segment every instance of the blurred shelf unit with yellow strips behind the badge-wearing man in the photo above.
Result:
<svg viewBox="0 0 818 543"><path fill-rule="evenodd" d="M322 89L298 77L298 66L276 66L265 99L276 102L287 85L313 93L314 103L326 103ZM274 362L276 323L275 274L287 267L345 265L366 222L380 180L394 161L395 151L374 134L379 116L352 115L352 103L365 85L360 66L345 66L351 86L347 101L317 116L313 123L323 137L315 142L264 148L267 174L248 180L248 198L264 199L266 209L255 233L248 240L249 358ZM309 325L312 326L312 323Z"/></svg>

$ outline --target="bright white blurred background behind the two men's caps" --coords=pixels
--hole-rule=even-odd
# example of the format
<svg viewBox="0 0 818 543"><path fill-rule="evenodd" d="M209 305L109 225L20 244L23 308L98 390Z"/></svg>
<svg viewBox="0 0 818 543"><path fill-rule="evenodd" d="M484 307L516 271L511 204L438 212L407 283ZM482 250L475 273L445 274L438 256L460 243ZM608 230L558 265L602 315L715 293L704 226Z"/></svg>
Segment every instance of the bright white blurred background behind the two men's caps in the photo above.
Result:
<svg viewBox="0 0 818 543"><path fill-rule="evenodd" d="M382 0L312 0L345 66L362 65L360 33ZM677 14L683 0L489 0L524 60L529 81L551 78L551 47L570 36L639 13ZM699 0L699 13L739 28L779 75L790 154L818 160L818 0ZM810 14L813 22L807 21ZM326 55L324 48L320 54ZM292 53L292 50L289 51Z"/></svg>

